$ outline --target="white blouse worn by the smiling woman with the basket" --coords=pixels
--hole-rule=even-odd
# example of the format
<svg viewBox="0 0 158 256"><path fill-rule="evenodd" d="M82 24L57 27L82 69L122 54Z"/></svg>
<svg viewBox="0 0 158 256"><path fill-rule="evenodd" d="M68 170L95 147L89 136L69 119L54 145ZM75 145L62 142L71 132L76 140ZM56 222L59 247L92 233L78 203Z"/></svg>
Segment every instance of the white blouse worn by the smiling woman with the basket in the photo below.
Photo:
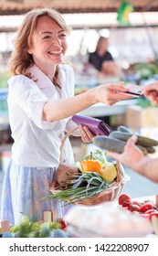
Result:
<svg viewBox="0 0 158 256"><path fill-rule="evenodd" d="M8 80L7 102L14 139L12 159L17 165L40 169L59 164L59 147L68 118L53 123L42 121L42 111L47 101L57 101L74 95L73 69L64 64L59 69L59 93L57 87L36 65L29 69L32 79L17 75ZM68 163L74 161L68 140L63 154Z"/></svg>

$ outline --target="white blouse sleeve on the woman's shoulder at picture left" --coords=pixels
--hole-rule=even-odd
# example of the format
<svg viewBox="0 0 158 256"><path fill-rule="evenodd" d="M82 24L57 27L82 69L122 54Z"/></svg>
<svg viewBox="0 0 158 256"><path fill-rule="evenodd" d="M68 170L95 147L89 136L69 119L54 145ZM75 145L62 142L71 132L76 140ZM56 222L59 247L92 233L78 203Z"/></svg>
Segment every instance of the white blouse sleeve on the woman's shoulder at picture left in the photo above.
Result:
<svg viewBox="0 0 158 256"><path fill-rule="evenodd" d="M16 103L26 115L41 129L48 129L52 123L42 121L43 107L48 101L47 96L37 84L23 75L8 80L8 101Z"/></svg>

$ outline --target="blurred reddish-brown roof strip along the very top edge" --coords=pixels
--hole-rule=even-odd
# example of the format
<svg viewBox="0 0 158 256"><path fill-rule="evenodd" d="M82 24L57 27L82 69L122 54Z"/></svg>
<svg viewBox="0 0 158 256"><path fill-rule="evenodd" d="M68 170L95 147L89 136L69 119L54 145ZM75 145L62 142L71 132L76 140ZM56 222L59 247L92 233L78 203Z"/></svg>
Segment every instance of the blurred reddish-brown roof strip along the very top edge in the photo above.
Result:
<svg viewBox="0 0 158 256"><path fill-rule="evenodd" d="M157 0L129 0L135 12L158 11ZM121 0L0 0L0 15L19 15L37 7L51 7L62 14L117 12Z"/></svg>

